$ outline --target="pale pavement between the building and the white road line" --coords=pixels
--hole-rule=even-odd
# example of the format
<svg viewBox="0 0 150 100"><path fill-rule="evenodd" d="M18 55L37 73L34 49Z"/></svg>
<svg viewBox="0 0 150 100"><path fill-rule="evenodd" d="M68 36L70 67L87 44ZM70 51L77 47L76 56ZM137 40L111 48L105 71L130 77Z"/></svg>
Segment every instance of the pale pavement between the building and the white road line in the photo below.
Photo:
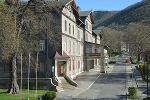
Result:
<svg viewBox="0 0 150 100"><path fill-rule="evenodd" d="M108 73L112 70L113 66L114 65L109 65L109 68L107 70ZM75 80L78 83L78 87L58 91L57 96L54 100L71 100L73 97L76 97L80 93L88 90L99 75L101 75L100 66L96 66L89 72L81 73Z"/></svg>

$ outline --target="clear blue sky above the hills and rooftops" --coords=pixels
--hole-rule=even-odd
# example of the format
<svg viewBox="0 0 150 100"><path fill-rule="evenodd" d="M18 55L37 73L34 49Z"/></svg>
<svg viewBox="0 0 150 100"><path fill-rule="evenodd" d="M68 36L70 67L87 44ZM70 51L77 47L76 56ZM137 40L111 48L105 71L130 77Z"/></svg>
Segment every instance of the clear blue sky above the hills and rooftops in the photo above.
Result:
<svg viewBox="0 0 150 100"><path fill-rule="evenodd" d="M124 8L142 0L75 0L76 5L85 10L123 10Z"/></svg>

